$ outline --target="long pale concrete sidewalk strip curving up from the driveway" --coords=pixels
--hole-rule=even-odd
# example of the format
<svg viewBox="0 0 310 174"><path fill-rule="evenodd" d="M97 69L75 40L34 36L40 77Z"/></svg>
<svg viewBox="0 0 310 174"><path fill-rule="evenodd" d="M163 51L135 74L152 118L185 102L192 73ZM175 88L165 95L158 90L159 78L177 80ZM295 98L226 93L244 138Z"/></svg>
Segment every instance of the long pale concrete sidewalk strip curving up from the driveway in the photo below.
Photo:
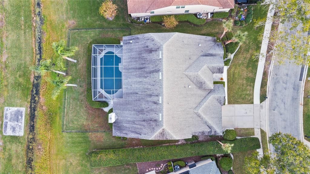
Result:
<svg viewBox="0 0 310 174"><path fill-rule="evenodd" d="M260 49L259 62L258 62L256 78L255 78L254 104L260 103L260 85L262 83L262 78L263 78L263 71L264 71L264 65L265 65L265 60L266 60L266 52L267 52L267 47L268 47L268 42L269 42L269 35L271 31L273 14L274 14L274 9L272 9L272 5L270 5L268 14L267 14L267 20L265 24L263 41L262 41L262 46Z"/></svg>

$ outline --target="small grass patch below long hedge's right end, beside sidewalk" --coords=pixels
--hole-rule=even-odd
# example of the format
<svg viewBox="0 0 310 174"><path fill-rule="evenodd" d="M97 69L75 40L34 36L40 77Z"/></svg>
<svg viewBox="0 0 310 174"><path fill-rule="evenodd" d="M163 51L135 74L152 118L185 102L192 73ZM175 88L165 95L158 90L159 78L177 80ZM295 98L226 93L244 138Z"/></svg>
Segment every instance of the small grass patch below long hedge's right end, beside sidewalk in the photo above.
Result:
<svg viewBox="0 0 310 174"><path fill-rule="evenodd" d="M244 160L245 157L251 156L251 154L255 152L255 150L249 150L245 152L237 152L233 153L233 165L232 169L235 172L235 174L248 174L244 169Z"/></svg>

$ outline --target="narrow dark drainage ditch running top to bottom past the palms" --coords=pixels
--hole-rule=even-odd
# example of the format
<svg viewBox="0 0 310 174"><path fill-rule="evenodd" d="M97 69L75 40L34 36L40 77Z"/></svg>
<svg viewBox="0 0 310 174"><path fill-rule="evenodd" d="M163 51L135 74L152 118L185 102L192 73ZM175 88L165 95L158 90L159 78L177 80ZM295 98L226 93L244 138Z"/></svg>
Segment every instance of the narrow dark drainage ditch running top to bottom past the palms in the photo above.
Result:
<svg viewBox="0 0 310 174"><path fill-rule="evenodd" d="M42 59L42 8L41 0L33 0L34 2L34 20L35 20L35 58L36 64ZM36 120L36 111L37 105L39 102L40 95L40 82L41 75L34 74L32 89L31 89L31 98L30 98L30 118L29 118L29 133L27 137L27 150L26 150L26 172L34 173L33 160L34 160L34 146L35 146L35 120Z"/></svg>

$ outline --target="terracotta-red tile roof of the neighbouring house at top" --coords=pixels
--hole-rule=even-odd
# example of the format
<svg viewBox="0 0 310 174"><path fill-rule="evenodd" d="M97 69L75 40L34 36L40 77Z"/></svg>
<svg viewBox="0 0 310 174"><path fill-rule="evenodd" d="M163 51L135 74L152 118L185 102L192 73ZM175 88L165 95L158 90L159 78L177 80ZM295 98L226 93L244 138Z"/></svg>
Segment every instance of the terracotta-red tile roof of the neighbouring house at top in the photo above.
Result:
<svg viewBox="0 0 310 174"><path fill-rule="evenodd" d="M146 13L169 6L207 5L233 8L234 0L127 0L128 13Z"/></svg>

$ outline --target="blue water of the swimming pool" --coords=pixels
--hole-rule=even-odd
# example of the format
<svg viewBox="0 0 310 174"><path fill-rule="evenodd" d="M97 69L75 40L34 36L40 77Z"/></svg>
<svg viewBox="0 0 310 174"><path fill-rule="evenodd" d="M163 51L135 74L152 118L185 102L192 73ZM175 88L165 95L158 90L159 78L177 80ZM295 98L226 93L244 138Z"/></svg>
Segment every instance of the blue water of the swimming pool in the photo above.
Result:
<svg viewBox="0 0 310 174"><path fill-rule="evenodd" d="M104 89L107 94L115 94L122 88L122 72L119 70L119 63L121 63L121 58L114 55L112 51L106 52L100 58L100 66L103 66L100 67L100 88Z"/></svg>

